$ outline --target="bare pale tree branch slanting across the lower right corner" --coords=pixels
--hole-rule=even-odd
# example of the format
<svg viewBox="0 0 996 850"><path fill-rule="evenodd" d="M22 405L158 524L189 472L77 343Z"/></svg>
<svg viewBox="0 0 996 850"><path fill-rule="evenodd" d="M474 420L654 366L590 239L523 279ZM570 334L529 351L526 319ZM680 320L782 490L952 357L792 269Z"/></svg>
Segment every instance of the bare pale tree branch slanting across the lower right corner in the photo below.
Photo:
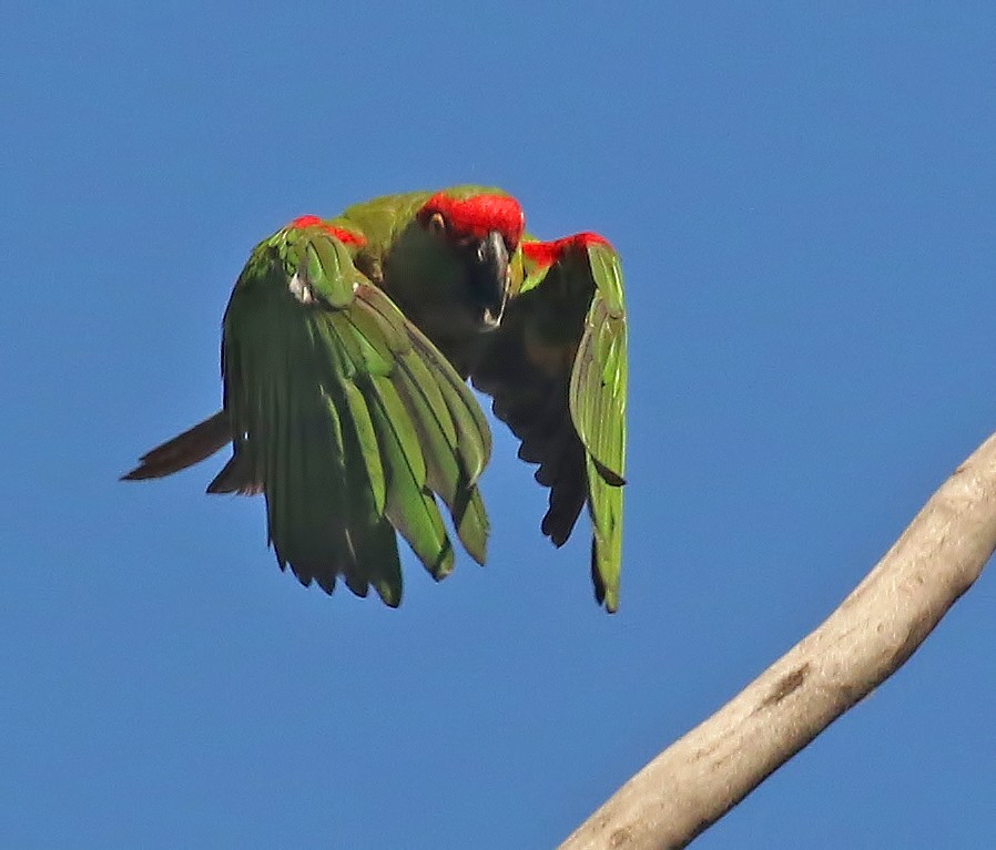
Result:
<svg viewBox="0 0 996 850"><path fill-rule="evenodd" d="M661 752L560 850L684 847L895 673L996 549L996 434L815 632Z"/></svg>

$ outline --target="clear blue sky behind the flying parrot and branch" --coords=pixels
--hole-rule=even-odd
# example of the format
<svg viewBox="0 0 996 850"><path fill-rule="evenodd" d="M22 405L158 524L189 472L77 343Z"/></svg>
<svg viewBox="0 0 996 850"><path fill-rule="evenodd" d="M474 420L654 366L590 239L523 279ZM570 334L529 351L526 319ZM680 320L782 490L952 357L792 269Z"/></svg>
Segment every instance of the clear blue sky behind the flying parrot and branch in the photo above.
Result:
<svg viewBox="0 0 996 850"><path fill-rule="evenodd" d="M145 6L3 7L2 847L552 847L996 429L992 3ZM258 238L466 181L622 253L617 616L498 423L490 563L398 611L221 458L116 482ZM697 847L996 846L994 587Z"/></svg>

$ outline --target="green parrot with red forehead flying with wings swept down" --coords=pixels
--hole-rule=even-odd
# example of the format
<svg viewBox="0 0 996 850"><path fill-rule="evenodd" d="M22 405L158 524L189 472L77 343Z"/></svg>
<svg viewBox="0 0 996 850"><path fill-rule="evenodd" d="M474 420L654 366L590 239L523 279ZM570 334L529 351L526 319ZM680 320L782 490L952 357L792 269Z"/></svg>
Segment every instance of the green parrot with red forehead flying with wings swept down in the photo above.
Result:
<svg viewBox="0 0 996 850"><path fill-rule="evenodd" d="M467 383L550 489L541 530L567 541L587 503L596 598L619 604L627 330L601 236L540 242L497 188L389 195L295 218L260 243L222 334L222 410L141 458L172 474L231 443L209 493L263 493L281 569L332 593L402 600L397 534L436 578L485 562L478 479L491 437Z"/></svg>

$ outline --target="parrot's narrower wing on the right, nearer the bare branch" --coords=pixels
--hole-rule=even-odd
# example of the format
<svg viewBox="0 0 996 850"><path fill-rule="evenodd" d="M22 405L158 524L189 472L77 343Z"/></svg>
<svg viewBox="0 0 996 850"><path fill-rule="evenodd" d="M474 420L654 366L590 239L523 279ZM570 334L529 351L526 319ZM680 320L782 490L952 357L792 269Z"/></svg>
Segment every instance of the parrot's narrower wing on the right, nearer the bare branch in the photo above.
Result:
<svg viewBox="0 0 996 850"><path fill-rule="evenodd" d="M489 338L474 385L538 463L550 488L542 532L570 536L582 506L592 523L591 576L619 604L626 462L627 330L619 256L597 234L522 244L526 279Z"/></svg>

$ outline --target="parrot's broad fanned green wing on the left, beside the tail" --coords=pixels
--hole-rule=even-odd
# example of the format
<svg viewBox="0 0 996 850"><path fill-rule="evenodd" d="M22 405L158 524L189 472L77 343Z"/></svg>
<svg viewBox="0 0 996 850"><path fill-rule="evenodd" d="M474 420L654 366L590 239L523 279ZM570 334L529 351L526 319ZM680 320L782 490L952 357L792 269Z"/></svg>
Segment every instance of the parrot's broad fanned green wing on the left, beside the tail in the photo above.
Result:
<svg viewBox="0 0 996 850"><path fill-rule="evenodd" d="M395 531L437 580L454 551L435 496L484 563L477 480L490 432L469 388L353 265L359 238L314 217L254 250L225 311L224 407L235 454L212 492L266 494L283 569L402 597Z"/></svg>

